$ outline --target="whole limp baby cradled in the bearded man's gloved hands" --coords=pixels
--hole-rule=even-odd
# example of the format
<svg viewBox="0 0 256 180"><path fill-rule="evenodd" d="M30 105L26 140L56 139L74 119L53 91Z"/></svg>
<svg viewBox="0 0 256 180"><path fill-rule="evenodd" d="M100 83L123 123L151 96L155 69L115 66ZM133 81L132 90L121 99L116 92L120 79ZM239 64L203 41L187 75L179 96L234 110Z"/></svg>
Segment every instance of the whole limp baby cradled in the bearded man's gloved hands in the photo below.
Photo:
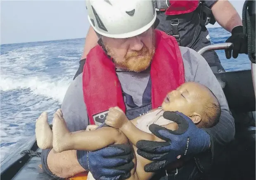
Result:
<svg viewBox="0 0 256 180"><path fill-rule="evenodd" d="M112 144L131 143L135 152L133 159L135 168L128 179L150 179L154 173L145 172L144 166L151 161L137 155L135 145L140 140L164 141L149 131L151 124L161 125L173 131L178 129L178 124L163 118L164 111L179 111L190 117L197 127L204 128L216 125L220 118L220 104L213 93L204 85L187 82L169 92L161 108L153 109L133 120L128 120L120 108L109 108L105 123L111 127L96 129L97 126L89 125L85 131L70 133L59 109L54 115L51 130L47 123L47 114L42 113L36 122L38 147L42 149L53 147L57 152L94 151Z"/></svg>

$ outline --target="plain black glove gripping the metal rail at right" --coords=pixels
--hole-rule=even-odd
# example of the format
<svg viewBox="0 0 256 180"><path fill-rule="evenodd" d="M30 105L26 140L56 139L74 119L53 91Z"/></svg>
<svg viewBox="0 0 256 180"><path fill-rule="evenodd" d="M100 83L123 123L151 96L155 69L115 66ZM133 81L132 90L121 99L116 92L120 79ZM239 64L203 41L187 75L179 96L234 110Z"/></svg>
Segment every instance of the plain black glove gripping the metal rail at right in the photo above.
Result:
<svg viewBox="0 0 256 180"><path fill-rule="evenodd" d="M243 33L243 26L239 25L232 29L231 36L226 40L226 42L232 42L234 47L225 49L226 58L231 58L231 51L233 58L237 58L238 54L247 54L247 36Z"/></svg>

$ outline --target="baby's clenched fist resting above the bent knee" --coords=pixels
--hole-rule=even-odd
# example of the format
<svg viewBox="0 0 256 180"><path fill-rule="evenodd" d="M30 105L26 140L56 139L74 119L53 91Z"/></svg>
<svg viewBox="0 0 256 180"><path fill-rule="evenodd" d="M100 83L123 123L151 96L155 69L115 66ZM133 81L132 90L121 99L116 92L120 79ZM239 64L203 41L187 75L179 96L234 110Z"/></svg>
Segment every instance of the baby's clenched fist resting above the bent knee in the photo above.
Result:
<svg viewBox="0 0 256 180"><path fill-rule="evenodd" d="M121 128L128 121L126 115L119 107L109 108L105 123L114 128Z"/></svg>

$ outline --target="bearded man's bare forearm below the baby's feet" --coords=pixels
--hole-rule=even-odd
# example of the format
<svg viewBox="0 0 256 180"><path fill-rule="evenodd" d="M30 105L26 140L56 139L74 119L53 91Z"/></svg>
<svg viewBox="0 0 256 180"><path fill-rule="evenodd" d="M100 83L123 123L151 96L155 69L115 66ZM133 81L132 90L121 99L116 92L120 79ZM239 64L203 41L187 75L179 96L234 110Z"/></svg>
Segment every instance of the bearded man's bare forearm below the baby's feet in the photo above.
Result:
<svg viewBox="0 0 256 180"><path fill-rule="evenodd" d="M46 171L50 172L60 178L69 178L78 173L84 172L85 169L80 166L76 157L76 150L69 150L63 152L55 152L50 150L48 156L43 155L42 166ZM47 162L45 164L44 162ZM47 167L46 167L47 166Z"/></svg>

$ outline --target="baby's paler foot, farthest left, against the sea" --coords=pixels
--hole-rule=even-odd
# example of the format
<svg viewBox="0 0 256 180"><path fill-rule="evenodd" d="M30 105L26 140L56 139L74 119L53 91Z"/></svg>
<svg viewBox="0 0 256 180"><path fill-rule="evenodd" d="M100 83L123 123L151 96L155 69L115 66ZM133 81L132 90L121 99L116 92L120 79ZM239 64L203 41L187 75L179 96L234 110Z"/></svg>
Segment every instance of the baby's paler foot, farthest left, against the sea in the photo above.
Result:
<svg viewBox="0 0 256 180"><path fill-rule="evenodd" d="M36 142L41 149L52 148L52 130L47 122L46 112L36 120Z"/></svg>

